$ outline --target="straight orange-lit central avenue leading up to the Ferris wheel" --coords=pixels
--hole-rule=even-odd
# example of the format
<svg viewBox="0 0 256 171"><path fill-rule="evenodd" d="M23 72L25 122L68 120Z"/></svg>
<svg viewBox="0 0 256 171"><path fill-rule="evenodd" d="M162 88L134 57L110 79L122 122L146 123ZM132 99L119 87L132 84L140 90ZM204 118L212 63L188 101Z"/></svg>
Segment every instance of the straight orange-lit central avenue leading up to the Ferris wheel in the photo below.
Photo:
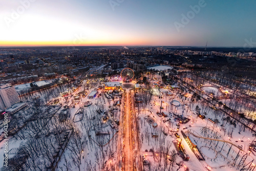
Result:
<svg viewBox="0 0 256 171"><path fill-rule="evenodd" d="M122 97L123 108L120 115L120 127L117 143L117 170L142 171L140 155L140 139L137 118L134 110L134 92L129 89L132 84L126 84Z"/></svg>

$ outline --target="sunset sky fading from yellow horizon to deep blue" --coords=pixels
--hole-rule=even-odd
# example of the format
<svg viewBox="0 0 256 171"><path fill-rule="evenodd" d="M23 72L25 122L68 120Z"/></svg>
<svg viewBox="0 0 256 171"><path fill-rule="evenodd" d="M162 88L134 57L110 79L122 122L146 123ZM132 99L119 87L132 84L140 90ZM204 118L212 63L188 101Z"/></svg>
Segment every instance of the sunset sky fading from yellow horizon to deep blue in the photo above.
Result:
<svg viewBox="0 0 256 171"><path fill-rule="evenodd" d="M208 41L208 46L242 47L245 39L256 41L256 1L0 1L0 46L205 46ZM182 14L190 14L189 22L182 23ZM177 29L177 23L183 27Z"/></svg>

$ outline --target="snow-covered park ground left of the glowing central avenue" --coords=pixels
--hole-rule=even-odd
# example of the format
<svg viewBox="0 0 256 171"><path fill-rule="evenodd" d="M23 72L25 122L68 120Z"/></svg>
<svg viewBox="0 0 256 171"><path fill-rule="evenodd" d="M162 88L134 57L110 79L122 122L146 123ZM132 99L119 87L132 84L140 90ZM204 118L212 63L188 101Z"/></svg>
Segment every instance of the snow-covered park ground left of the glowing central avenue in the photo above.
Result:
<svg viewBox="0 0 256 171"><path fill-rule="evenodd" d="M89 88L89 90L86 91L87 95L91 91L96 90L96 87L100 85L100 81L95 82L93 80L89 80L88 82L89 86L87 88ZM84 81L82 87L86 85L87 82ZM30 88L30 84L22 84L17 87L18 89ZM86 144L84 145L84 149L82 150L83 155L81 158L80 168L81 170L88 170L88 168L90 167L89 165L92 165L92 167L98 165L96 162L100 162L99 164L102 166L102 164L110 158L112 158L112 160L115 160L117 142L116 133L118 130L118 125L114 120L119 120L120 106L114 105L114 103L116 104L117 100L120 100L120 98L117 97L115 98L115 100L113 100L112 95L104 95L101 90L98 90L98 94L95 98L88 98L87 96L81 97L80 101L75 104L73 102L74 97L76 97L79 92L82 92L84 90L82 87L76 89L76 91L73 92L71 89L67 89L67 85L63 85L59 90L62 90L62 93L65 91L69 91L69 93L71 93L70 95L68 95L67 99L61 97L62 93L57 93L57 91L55 91L56 88L52 88L43 92L34 93L33 95L29 94L26 97L22 97L22 100L32 101L33 97L38 96L39 99L42 100L41 105L45 103L45 100L47 100L48 102L51 101L51 103L48 103L50 105L53 105L54 100L59 100L59 102L56 104L56 107L60 106L60 103L62 104L62 106L60 106L57 117L59 117L61 111L64 109L64 106L72 106L72 108L68 109L70 113L69 123L73 123L74 129L77 129L77 131L81 133L82 139L84 139L84 144ZM51 95L48 94L50 92ZM83 106L86 101L91 101L92 105L87 107ZM45 109L47 109L47 106L48 105L46 105ZM83 108L84 112L75 116L80 108ZM44 116L46 113L46 111L42 110L41 115ZM19 115L20 114L23 114L22 111L19 112ZM107 115L108 119L103 120L102 118L104 115ZM54 129L54 126L52 129ZM32 137L34 136L34 134L31 135ZM11 149L13 151L14 148L18 148L19 144L22 142L26 145L28 140L33 140L31 136L26 135L25 137L26 138L24 140L16 140L14 137L10 137L11 139L8 141L8 151L10 151ZM4 154L3 143L4 141L0 142L0 152L2 154ZM65 151L61 156L61 159L58 163L58 168L56 168L56 170L61 170L61 167L65 167L64 165L66 163L66 159L69 165L69 169L77 170L71 154L73 154L73 152L70 151L68 147L65 148ZM9 155L9 159L14 156L15 155ZM3 161L3 155L0 157L0 160ZM3 162L1 162L0 167L2 166ZM97 166L95 170L99 170L99 167Z"/></svg>

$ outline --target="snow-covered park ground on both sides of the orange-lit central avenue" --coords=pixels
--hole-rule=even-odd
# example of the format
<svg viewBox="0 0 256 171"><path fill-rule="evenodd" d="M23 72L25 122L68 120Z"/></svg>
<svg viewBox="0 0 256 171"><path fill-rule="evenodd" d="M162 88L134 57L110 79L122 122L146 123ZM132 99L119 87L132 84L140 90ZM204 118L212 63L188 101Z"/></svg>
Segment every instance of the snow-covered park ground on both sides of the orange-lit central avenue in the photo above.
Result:
<svg viewBox="0 0 256 171"><path fill-rule="evenodd" d="M148 80L152 81L152 84L157 82L160 84L161 76L153 75L152 78L148 78ZM84 90L83 86L87 85L87 82L89 82L90 85L88 86L88 90L86 90L87 95L81 97L77 104L72 103L74 97ZM120 96L116 96L116 98L113 99L113 94L97 90L99 85L99 81L83 81L82 87L78 88L76 91L72 92L69 90L71 94L67 99L61 97L60 93L57 94L56 97L54 96L54 93L51 93L49 99L46 97L48 94L42 92L38 92L33 96L40 95L41 100L48 100L48 102L58 99L62 106L57 115L64 109L64 106L74 105L74 108L72 107L69 109L70 117L68 122L72 122L72 126L77 129L77 132L81 133L81 137L84 140L84 146L81 151L80 170L89 170L89 168L91 170L101 170L102 166L106 169L106 167L110 168L113 165L115 165L115 167L120 165L120 163L117 163L116 159L118 157L117 152L121 150L117 149L117 141L118 138L121 137L117 136L119 125L115 120L119 120L120 113L123 110L123 102ZM30 85L28 84L26 86L23 84L23 86L20 86L20 89L27 87L30 87ZM220 93L219 95L221 95L221 92L215 87L203 87L202 90L214 92L215 95ZM67 91L67 87L63 86L63 92L65 91ZM98 91L97 96L88 98L88 94L91 91ZM137 103L138 106L135 105L141 142L140 153L151 163L152 169L155 168L155 170L161 170L161 168L164 167L164 160L163 158L159 158L159 156L161 152L166 149L168 144L170 144L169 153L172 150L177 152L173 143L174 141L177 141L175 133L179 134L182 140L181 143L189 156L189 161L183 161L183 159L178 156L172 170L177 170L179 168L176 163L180 164L179 170L189 168L190 170L197 171L206 170L205 167L208 167L211 168L211 170L229 171L237 168L232 167L234 159L237 157L236 164L238 164L242 156L248 153L248 146L254 139L252 133L248 129L244 129L239 123L234 124L232 119L228 118L220 111L215 111L209 108L209 105L205 104L203 101L191 101L192 95L189 94L189 92L181 93L180 90L159 89L156 86L153 89L153 94L151 101L148 102L145 108L143 108L142 103ZM28 100L31 99L32 97ZM83 106L87 101L91 101L92 105L87 107ZM121 104L117 105L117 101L120 101ZM59 103L56 105L58 106ZM162 106L161 109L160 106ZM75 115L81 108L83 108L83 114ZM157 115L157 112L160 111L163 112L166 117ZM198 115L196 115L197 112L205 115L205 119L198 117ZM44 111L42 111L41 114L45 115ZM181 123L179 126L178 115L190 120L185 124ZM218 121L219 123L214 124L208 120L208 118L213 121ZM154 123L156 123L157 126L156 124L153 126ZM178 128L179 130L177 131ZM203 130L206 131L203 132ZM199 161L197 159L196 155L191 151L188 143L182 136L181 131L195 142L204 156L205 161ZM197 136L216 140L206 140L198 138ZM29 136L28 139L30 139ZM226 141L224 145L222 141ZM3 142L4 141L0 142L0 153L2 154L4 153ZM22 142L26 144L27 140L16 141L15 138L10 139L8 146L9 150L17 148ZM240 152L237 146L242 148ZM65 165L67 164L71 170L78 170L73 162L72 154L73 152L70 148L65 148L58 163L58 167L55 170L61 170L65 168ZM245 164L256 159L256 152L252 151L251 153L248 153L248 155ZM10 155L10 157L12 156ZM3 156L0 157L0 160L3 161ZM160 166L158 169L159 163ZM170 162L168 162L168 166L169 163ZM3 163L0 166L3 166ZM146 165L144 168L147 170Z"/></svg>

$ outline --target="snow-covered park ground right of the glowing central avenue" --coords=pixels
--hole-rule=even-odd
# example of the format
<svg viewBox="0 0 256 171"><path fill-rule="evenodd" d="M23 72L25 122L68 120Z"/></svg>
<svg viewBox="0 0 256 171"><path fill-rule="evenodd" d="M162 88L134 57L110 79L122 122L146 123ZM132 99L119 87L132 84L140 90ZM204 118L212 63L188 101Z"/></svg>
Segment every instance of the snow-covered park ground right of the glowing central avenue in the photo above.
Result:
<svg viewBox="0 0 256 171"><path fill-rule="evenodd" d="M204 87L203 90L214 92L216 95L221 95L221 92L219 92L219 90L214 87ZM185 148L185 151L190 157L189 161L183 161L181 157L177 158L176 163L182 162L183 165L185 165L179 170L185 169L186 167L188 167L190 170L195 171L206 170L206 167L210 170L218 171L237 169L237 166L233 167L232 165L234 163L234 159L236 159L237 157L236 164L238 164L241 161L243 155L245 155L246 153L249 155L248 145L254 139L254 137L252 137L252 133L248 129L244 130L243 126L238 123L236 126L230 124L229 121L226 121L227 119L224 120L225 118L227 118L225 114L222 114L221 112L216 112L215 110L209 108L209 106L203 106L202 101L195 101L191 103L191 95L188 96L187 94L185 94L187 96L185 98L178 92L179 91L172 92L173 96L166 96L165 94L163 94L163 98L160 99L158 96L153 96L151 103L146 106L145 110L140 112L140 119L138 120L138 123L140 126L140 137L142 143L141 154L145 156L146 160L151 163L153 168L157 168L159 159L156 157L156 154L159 154L161 144L164 143L163 146L166 147L166 144L168 144L168 142L173 142L177 140L177 138L174 136L175 132L171 132L177 131L176 124L178 123L178 120L175 121L174 116L174 114L177 114L183 115L184 117L190 119L188 123L181 124L178 131L178 134L182 139L182 144ZM163 109L161 111L169 114L169 116L164 118L157 115L157 112L160 112L161 101L164 101L162 102ZM179 103L181 103L181 106L173 106L172 101L178 101ZM200 113L205 114L204 112L206 112L207 114L204 120L196 115L197 105L199 106L198 109L201 110ZM212 120L218 119L220 123L214 124L208 121L208 118ZM166 120L168 121L166 122ZM153 123L157 123L157 127L153 127ZM209 129L208 133L201 134L202 130L206 128ZM205 158L205 161L199 161L197 159L196 155L191 151L188 143L182 136L181 131L184 131L185 134L191 132L189 137L198 146L199 150ZM163 132L168 133L168 135L165 136ZM152 133L157 134L158 137L152 137ZM221 151L223 142L217 140L205 140L202 138L199 139L193 136L192 133L194 133L195 135L200 135L201 137L208 136L214 138L215 136L218 137L218 139L221 141L228 141L230 143L225 142ZM146 136L148 134L149 136ZM234 145L232 145L231 143ZM237 146L243 148L243 151L239 152L239 148ZM173 143L170 148L175 149ZM154 153L151 153L150 150L154 150ZM245 164L249 163L253 159L256 159L256 153L255 156L253 155L254 153L255 152L252 152L250 156L247 157ZM164 162L162 160L161 167L163 168L163 166ZM173 170L177 170L178 167L178 165L174 164Z"/></svg>

